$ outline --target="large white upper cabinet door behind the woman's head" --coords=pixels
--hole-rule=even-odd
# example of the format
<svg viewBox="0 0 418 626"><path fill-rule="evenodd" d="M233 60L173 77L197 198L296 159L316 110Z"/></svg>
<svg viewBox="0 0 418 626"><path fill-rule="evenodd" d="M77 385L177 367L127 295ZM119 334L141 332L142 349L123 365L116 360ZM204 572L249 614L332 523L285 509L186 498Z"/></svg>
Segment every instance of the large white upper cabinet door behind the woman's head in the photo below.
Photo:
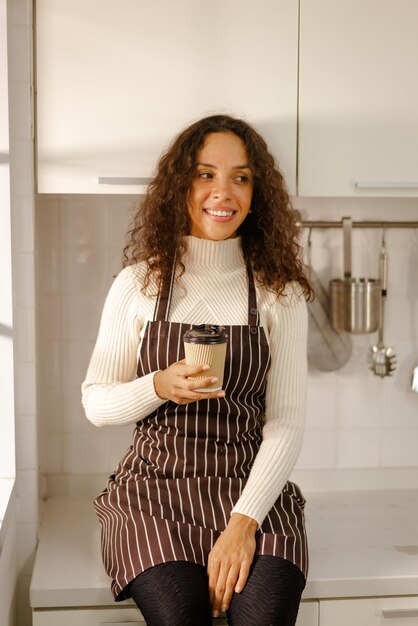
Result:
<svg viewBox="0 0 418 626"><path fill-rule="evenodd" d="M37 0L40 193L135 193L184 126L265 136L296 189L297 0ZM129 182L129 180L128 180Z"/></svg>

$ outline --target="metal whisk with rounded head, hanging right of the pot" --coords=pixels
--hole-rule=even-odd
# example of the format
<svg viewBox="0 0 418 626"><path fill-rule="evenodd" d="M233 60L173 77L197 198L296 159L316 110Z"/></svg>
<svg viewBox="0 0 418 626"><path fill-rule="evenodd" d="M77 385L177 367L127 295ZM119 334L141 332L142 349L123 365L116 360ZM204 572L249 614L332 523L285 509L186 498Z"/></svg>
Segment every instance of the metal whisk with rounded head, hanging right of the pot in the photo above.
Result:
<svg viewBox="0 0 418 626"><path fill-rule="evenodd" d="M376 374L376 376L380 376L381 378L384 378L385 376L392 376L396 367L395 351L391 347L386 347L383 341L384 308L387 296L387 273L388 254L386 251L385 229L383 228L382 244L379 254L379 274L382 284L380 325L378 329L377 344L369 350L370 369L374 374Z"/></svg>

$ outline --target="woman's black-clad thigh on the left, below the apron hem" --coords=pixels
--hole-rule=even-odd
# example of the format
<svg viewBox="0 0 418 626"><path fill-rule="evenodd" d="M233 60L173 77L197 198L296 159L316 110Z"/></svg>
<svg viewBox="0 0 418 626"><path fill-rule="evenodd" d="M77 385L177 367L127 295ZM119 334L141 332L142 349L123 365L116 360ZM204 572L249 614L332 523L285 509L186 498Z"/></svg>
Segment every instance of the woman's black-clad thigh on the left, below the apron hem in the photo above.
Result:
<svg viewBox="0 0 418 626"><path fill-rule="evenodd" d="M196 563L155 565L130 583L129 592L147 626L212 624L206 569Z"/></svg>

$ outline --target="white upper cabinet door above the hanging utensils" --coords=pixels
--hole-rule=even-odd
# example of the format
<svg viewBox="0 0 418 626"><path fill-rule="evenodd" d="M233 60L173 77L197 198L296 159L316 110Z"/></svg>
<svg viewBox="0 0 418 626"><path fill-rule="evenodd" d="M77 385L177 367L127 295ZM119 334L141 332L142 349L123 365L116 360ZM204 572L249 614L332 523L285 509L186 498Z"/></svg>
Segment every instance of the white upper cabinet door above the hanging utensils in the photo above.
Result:
<svg viewBox="0 0 418 626"><path fill-rule="evenodd" d="M418 195L418 2L301 0L302 196Z"/></svg>

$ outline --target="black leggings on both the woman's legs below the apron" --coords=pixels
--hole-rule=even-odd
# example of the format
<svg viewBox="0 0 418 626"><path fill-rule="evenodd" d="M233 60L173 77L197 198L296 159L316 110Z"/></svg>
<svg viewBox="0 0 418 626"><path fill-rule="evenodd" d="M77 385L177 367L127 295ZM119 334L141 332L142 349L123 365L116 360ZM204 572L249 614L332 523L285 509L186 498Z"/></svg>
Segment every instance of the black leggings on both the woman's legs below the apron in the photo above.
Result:
<svg viewBox="0 0 418 626"><path fill-rule="evenodd" d="M247 583L227 611L231 626L294 626L305 586L290 561L256 556ZM145 570L129 593L147 626L211 626L208 578L202 565L175 561Z"/></svg>

